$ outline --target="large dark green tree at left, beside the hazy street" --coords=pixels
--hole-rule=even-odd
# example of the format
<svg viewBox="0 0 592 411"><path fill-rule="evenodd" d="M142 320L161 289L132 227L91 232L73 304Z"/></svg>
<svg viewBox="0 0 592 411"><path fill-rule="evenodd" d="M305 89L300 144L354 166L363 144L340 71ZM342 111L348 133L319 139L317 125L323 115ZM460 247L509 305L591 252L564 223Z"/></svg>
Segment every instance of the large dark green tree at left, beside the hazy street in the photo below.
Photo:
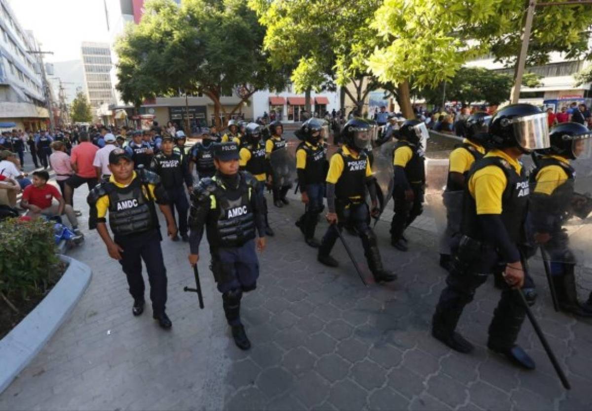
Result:
<svg viewBox="0 0 592 411"><path fill-rule="evenodd" d="M118 89L139 105L156 95L202 93L229 115L258 90L283 89L287 73L272 69L262 51L265 29L240 0L151 0L140 24L129 25L118 41ZM223 95L237 94L227 113Z"/></svg>

